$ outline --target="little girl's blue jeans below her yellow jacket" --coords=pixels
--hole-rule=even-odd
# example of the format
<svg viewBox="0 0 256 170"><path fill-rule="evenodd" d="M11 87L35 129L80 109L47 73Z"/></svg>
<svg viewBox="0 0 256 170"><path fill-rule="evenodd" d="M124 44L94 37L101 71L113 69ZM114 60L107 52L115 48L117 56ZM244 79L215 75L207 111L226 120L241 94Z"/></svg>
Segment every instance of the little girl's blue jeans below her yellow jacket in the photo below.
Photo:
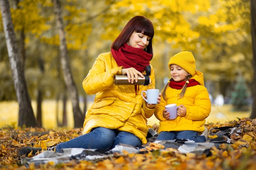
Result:
<svg viewBox="0 0 256 170"><path fill-rule="evenodd" d="M204 136L198 135L198 132L192 130L183 130L183 131L162 131L157 136L158 140L174 140L174 139L189 139L195 142L205 142L206 138Z"/></svg>

